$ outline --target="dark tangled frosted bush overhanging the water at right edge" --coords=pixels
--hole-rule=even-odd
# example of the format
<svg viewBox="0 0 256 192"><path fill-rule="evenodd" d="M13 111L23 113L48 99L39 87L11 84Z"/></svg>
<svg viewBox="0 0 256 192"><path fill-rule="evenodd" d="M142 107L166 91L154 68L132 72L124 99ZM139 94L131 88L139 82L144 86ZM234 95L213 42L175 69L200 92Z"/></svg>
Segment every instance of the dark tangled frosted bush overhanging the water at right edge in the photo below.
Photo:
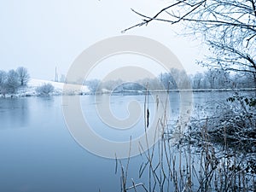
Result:
<svg viewBox="0 0 256 192"><path fill-rule="evenodd" d="M226 102L216 103L212 117L193 120L195 135L201 134L201 128L207 127L209 139L214 143L240 150L243 152L256 152L256 99L251 96L242 96L235 93ZM197 134L196 134L197 132ZM193 133L193 134L194 134ZM194 137L191 136L191 137Z"/></svg>

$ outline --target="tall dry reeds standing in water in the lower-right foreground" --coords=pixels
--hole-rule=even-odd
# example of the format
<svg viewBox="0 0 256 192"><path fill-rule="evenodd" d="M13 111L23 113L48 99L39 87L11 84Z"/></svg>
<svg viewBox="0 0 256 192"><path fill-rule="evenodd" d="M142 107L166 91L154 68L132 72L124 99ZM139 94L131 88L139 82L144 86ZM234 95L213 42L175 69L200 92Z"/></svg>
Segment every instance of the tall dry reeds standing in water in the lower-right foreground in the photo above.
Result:
<svg viewBox="0 0 256 192"><path fill-rule="evenodd" d="M148 93L145 111L147 97ZM225 130L224 144L212 143L206 119L200 132L195 134L189 128L177 143L173 143L173 137L178 133L170 131L167 122L165 113L159 120L158 143L152 148L140 146L142 162L137 170L137 181L128 176L132 164L130 157L125 166L122 160L117 160L121 167L122 192L256 191L256 162L247 158L248 154L229 147Z"/></svg>

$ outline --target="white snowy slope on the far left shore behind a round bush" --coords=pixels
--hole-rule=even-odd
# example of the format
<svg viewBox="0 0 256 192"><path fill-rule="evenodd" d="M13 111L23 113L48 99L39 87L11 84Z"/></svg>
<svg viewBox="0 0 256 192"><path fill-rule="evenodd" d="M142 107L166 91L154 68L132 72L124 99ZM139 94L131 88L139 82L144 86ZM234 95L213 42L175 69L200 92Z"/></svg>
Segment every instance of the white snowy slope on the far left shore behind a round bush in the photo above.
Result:
<svg viewBox="0 0 256 192"><path fill-rule="evenodd" d="M79 84L65 84L64 83L42 80L42 79L30 79L26 87L20 87L15 94L7 94L6 97L13 96L38 96L37 88L44 84L52 84L54 86L54 91L51 92L50 96L59 95L82 95L90 93L87 86L80 86Z"/></svg>

